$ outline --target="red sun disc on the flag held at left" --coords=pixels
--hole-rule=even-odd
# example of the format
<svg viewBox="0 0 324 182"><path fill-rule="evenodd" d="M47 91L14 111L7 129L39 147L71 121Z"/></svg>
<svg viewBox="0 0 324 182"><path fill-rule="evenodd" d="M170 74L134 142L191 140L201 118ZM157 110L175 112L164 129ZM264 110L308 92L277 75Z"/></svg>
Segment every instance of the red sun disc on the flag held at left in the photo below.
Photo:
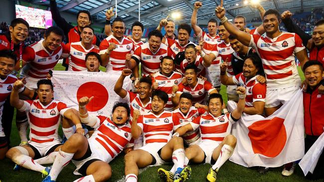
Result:
<svg viewBox="0 0 324 182"><path fill-rule="evenodd" d="M78 101L84 96L89 98L94 96L94 98L87 104L87 109L90 112L95 112L102 109L107 104L109 94L103 85L97 82L87 82L82 84L76 92Z"/></svg>

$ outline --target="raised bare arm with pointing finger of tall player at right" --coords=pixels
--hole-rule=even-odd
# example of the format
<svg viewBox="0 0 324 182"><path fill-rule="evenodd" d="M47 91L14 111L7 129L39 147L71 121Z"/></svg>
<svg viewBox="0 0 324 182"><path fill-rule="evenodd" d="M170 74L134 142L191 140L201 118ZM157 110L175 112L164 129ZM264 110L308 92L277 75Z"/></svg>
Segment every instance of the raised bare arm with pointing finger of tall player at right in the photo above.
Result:
<svg viewBox="0 0 324 182"><path fill-rule="evenodd" d="M215 9L215 14L231 35L236 37L237 40L239 40L242 44L249 46L251 36L243 31L240 31L235 25L228 21L227 17L225 16L224 7L217 6Z"/></svg>

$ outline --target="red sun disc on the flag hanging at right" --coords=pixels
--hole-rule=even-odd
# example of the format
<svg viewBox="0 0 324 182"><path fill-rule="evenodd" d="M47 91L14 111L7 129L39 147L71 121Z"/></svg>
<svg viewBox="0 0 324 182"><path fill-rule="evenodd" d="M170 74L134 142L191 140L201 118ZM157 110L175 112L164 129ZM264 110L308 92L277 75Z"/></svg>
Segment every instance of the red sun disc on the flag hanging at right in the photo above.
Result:
<svg viewBox="0 0 324 182"><path fill-rule="evenodd" d="M284 121L283 118L274 117L254 122L248 127L248 136L255 154L274 158L281 153L287 141Z"/></svg>

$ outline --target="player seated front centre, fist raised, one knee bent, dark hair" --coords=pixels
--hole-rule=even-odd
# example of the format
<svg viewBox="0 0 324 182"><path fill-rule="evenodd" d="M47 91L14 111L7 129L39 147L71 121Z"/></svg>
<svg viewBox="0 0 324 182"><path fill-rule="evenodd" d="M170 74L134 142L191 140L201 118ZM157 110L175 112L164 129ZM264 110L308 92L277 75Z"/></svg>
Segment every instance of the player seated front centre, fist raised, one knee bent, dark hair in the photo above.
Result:
<svg viewBox="0 0 324 182"><path fill-rule="evenodd" d="M132 136L137 139L143 132L144 146L125 155L126 182L137 182L139 168L159 166L171 161L176 166L174 182L190 178L190 167L183 168L183 140L181 137L171 139L172 131L176 128L172 122L172 113L164 110L167 98L164 91L154 91L152 111L138 119L133 116ZM136 112L139 114L139 111Z"/></svg>

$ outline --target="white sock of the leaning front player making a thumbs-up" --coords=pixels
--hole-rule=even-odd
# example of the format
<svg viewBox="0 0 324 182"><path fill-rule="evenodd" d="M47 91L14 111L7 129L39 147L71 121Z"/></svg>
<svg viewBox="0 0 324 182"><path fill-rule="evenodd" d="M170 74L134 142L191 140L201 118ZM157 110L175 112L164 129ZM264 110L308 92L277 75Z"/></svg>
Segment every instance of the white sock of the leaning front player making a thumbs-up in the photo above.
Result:
<svg viewBox="0 0 324 182"><path fill-rule="evenodd" d="M56 156L51 172L49 173L51 180L56 181L58 174L60 174L62 169L69 164L73 156L74 153L67 153L61 151L61 149L58 151L58 155Z"/></svg>

